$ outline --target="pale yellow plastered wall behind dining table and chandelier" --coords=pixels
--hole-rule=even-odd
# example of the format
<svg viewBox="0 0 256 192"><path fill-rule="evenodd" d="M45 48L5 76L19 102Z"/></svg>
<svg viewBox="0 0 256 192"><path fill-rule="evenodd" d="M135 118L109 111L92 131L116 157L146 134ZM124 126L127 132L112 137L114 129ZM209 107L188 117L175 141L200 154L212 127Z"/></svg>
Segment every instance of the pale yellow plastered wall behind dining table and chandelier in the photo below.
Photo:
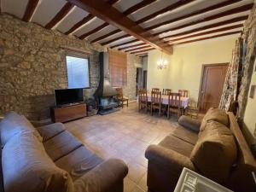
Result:
<svg viewBox="0 0 256 192"><path fill-rule="evenodd" d="M236 38L219 38L200 43L184 44L173 49L173 55L163 55L168 68L157 69L161 58L159 50L148 53L148 90L153 87L189 90L192 101L197 102L201 83L202 64L230 62Z"/></svg>

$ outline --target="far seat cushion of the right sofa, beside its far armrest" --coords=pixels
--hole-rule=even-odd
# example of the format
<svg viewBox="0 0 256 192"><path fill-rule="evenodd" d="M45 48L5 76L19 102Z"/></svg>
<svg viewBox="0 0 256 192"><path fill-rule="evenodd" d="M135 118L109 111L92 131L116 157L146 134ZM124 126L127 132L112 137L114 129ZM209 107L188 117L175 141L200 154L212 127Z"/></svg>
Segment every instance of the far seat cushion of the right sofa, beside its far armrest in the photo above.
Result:
<svg viewBox="0 0 256 192"><path fill-rule="evenodd" d="M195 145L198 138L198 133L185 129L183 126L177 126L172 131L172 136L182 139L183 141Z"/></svg>

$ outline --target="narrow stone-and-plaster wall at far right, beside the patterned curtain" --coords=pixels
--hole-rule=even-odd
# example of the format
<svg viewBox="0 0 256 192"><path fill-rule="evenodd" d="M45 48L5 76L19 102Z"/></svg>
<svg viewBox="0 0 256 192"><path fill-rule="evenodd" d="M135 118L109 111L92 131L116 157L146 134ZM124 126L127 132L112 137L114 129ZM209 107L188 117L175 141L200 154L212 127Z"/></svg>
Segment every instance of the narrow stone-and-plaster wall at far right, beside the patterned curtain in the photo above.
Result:
<svg viewBox="0 0 256 192"><path fill-rule="evenodd" d="M248 98L250 84L255 84L253 80L256 73L254 65L256 63L256 0L254 0L253 9L244 24L242 38L246 42L246 56L244 58L244 69L241 80L241 89L238 96L238 122L241 125L242 131L247 138L249 144L256 143L256 124L255 124L255 98ZM254 96L255 97L255 96Z"/></svg>

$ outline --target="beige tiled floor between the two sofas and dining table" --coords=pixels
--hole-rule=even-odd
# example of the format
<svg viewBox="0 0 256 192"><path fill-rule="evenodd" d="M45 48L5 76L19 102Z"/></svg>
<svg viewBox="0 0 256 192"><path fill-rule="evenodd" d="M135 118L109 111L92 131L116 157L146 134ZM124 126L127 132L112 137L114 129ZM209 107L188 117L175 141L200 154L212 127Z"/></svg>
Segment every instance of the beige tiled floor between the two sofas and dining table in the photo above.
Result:
<svg viewBox="0 0 256 192"><path fill-rule="evenodd" d="M119 158L129 167L125 192L147 191L147 159L145 150L175 130L177 117L166 119L157 113L138 113L137 103L118 112L95 115L65 124L87 148L103 159Z"/></svg>

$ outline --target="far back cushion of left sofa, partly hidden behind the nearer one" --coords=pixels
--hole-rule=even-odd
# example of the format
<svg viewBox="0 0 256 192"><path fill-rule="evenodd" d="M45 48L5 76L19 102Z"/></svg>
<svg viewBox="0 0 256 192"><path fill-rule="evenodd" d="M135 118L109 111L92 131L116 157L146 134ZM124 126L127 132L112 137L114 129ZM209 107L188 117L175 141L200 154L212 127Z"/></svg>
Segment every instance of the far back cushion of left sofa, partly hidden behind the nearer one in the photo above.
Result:
<svg viewBox="0 0 256 192"><path fill-rule="evenodd" d="M3 146L9 142L10 138L21 132L32 132L38 137L39 141L42 141L42 137L26 117L15 112L7 113L4 119L0 122L0 130Z"/></svg>

